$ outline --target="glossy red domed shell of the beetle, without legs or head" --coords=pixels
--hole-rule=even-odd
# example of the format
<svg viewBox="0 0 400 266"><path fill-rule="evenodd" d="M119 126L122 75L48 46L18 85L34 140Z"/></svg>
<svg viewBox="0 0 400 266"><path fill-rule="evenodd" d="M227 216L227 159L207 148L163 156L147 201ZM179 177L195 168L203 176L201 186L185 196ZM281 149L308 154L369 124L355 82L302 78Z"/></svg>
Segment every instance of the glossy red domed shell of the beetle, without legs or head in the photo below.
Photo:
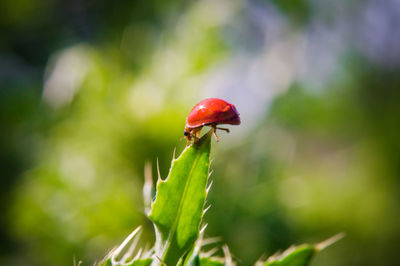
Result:
<svg viewBox="0 0 400 266"><path fill-rule="evenodd" d="M239 113L236 107L218 98L208 98L196 104L190 111L187 128L196 128L209 124L240 125Z"/></svg>

